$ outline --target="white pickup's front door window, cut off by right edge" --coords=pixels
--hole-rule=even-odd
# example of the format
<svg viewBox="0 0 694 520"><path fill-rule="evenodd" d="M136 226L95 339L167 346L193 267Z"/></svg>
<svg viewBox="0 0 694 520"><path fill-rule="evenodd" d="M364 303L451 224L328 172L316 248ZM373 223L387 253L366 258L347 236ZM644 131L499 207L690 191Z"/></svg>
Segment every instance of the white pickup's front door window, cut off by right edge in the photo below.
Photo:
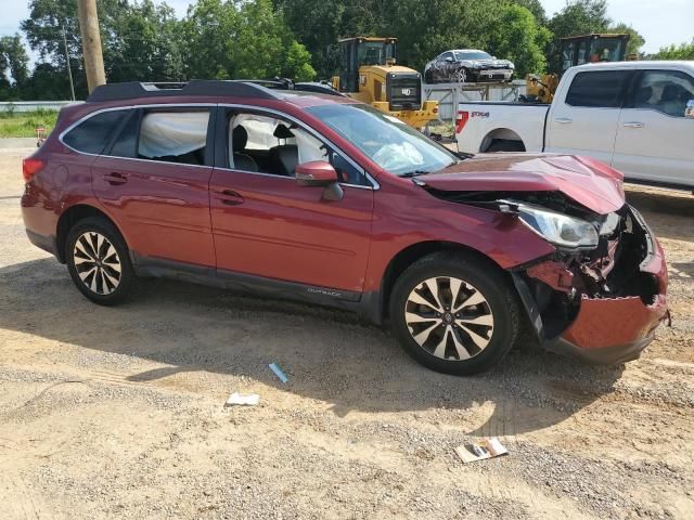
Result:
<svg viewBox="0 0 694 520"><path fill-rule="evenodd" d="M650 108L673 117L684 117L694 100L694 79L678 70L644 70L633 99L634 108Z"/></svg>

